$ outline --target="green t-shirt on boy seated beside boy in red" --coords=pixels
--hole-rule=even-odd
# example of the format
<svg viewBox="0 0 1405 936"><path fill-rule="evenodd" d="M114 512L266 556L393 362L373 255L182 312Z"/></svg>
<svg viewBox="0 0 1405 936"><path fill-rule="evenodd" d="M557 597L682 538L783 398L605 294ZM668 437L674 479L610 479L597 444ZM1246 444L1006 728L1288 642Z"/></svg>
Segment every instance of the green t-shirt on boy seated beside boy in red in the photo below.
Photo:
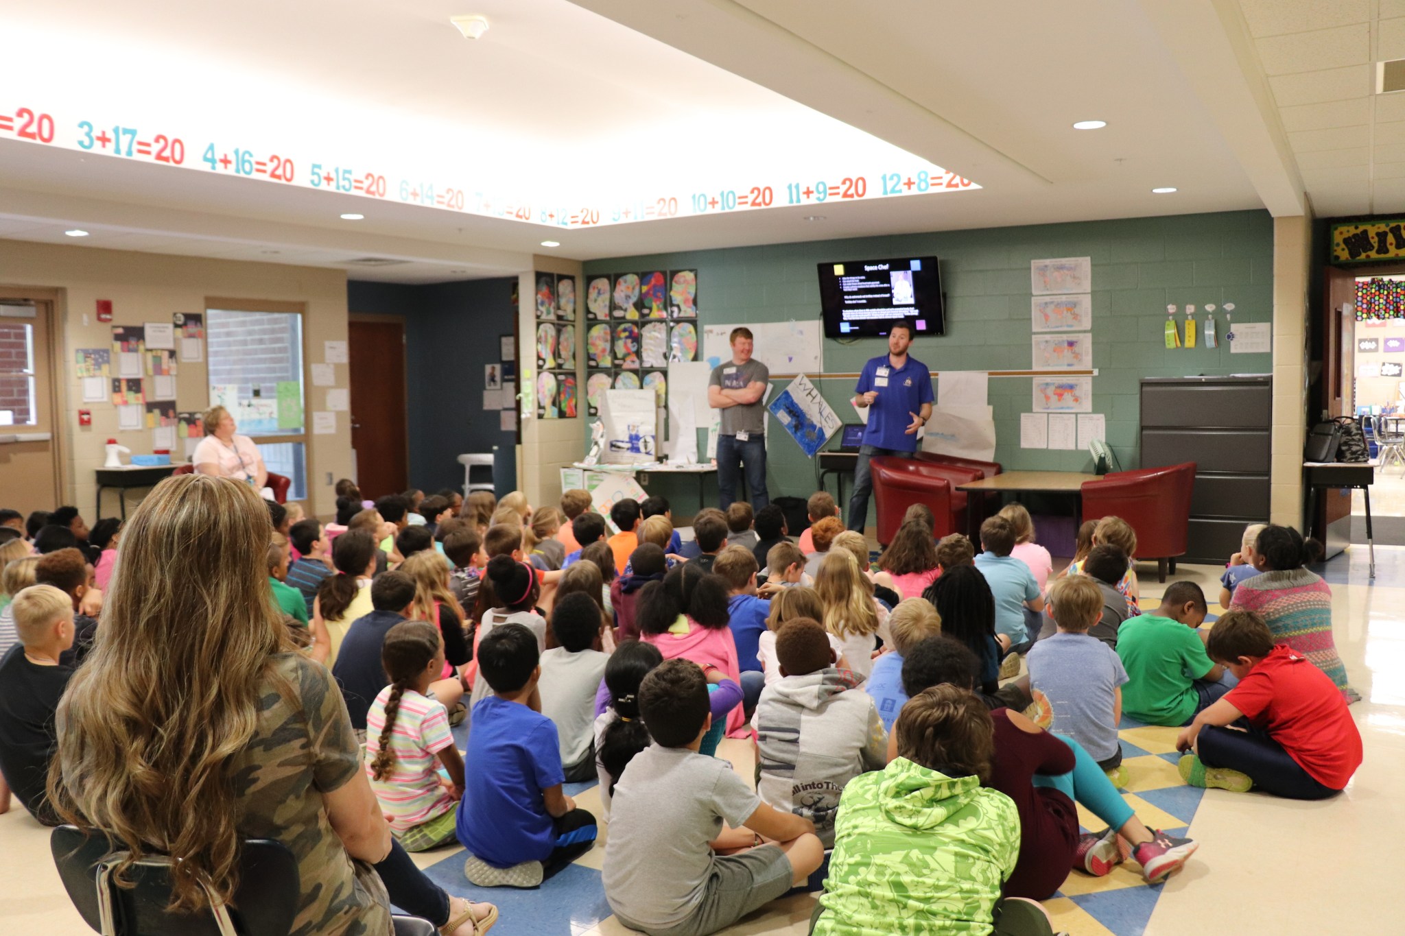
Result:
<svg viewBox="0 0 1405 936"><path fill-rule="evenodd" d="M1127 669L1123 711L1148 724L1182 726L1196 713L1194 681L1211 669L1200 634L1179 620L1141 615L1117 629L1117 655Z"/></svg>

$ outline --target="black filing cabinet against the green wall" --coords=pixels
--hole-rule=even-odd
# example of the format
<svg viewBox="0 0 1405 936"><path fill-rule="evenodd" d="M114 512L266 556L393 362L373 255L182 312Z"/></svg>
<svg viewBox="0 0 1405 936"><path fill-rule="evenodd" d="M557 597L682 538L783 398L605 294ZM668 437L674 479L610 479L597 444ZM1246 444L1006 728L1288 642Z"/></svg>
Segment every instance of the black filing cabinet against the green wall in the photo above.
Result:
<svg viewBox="0 0 1405 936"><path fill-rule="evenodd" d="M1196 463L1187 563L1224 564L1243 528L1269 522L1273 380L1146 377L1141 466Z"/></svg>

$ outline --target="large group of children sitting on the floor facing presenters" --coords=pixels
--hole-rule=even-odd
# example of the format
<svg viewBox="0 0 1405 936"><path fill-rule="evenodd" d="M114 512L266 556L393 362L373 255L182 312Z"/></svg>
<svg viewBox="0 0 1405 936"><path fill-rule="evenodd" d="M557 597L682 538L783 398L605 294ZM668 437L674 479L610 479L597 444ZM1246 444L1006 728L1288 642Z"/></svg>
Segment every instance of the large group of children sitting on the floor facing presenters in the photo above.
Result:
<svg viewBox="0 0 1405 936"><path fill-rule="evenodd" d="M1361 762L1290 528L1246 530L1205 630L1190 581L1141 612L1116 516L1055 575L1017 504L979 553L915 504L871 563L823 493L799 543L774 505L704 509L684 542L660 497L615 502L611 535L587 491L337 493L336 523L270 502L270 598L336 676L395 836L535 887L593 848L563 784L599 779L606 897L648 933L722 929L826 860L816 933L1048 933L1035 901L1071 869L1162 881L1196 843L1118 793L1124 713L1183 727L1194 786L1322 798ZM118 542L73 508L0 511L0 772L44 821L52 713ZM724 735L754 738L754 787L712 756ZM1080 834L1076 803L1106 828Z"/></svg>

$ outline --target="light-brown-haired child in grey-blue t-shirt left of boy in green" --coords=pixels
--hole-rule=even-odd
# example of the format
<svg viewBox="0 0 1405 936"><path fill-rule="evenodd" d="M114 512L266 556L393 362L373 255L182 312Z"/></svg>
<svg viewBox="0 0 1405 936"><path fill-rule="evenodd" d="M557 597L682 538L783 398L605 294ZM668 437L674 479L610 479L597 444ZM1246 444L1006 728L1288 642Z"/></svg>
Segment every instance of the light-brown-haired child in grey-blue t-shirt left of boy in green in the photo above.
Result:
<svg viewBox="0 0 1405 936"><path fill-rule="evenodd" d="M1099 768L1117 770L1110 779L1124 786L1117 726L1127 671L1111 647L1087 633L1103 612L1103 592L1087 575L1066 575L1050 585L1050 606L1058 633L1030 648L1030 686L1050 700L1050 731L1078 741Z"/></svg>

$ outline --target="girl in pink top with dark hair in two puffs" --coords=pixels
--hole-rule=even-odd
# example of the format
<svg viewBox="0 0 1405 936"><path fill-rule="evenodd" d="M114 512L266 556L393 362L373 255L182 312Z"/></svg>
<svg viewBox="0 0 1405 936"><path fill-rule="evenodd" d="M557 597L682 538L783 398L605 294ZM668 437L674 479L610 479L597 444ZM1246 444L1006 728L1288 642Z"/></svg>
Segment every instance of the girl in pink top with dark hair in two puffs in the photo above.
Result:
<svg viewBox="0 0 1405 936"><path fill-rule="evenodd" d="M693 563L674 566L663 581L641 588L634 610L639 640L658 647L665 660L681 657L700 667L711 664L742 685L736 640L728 620L726 581ZM736 706L726 716L726 734L745 737L743 723L742 706Z"/></svg>

